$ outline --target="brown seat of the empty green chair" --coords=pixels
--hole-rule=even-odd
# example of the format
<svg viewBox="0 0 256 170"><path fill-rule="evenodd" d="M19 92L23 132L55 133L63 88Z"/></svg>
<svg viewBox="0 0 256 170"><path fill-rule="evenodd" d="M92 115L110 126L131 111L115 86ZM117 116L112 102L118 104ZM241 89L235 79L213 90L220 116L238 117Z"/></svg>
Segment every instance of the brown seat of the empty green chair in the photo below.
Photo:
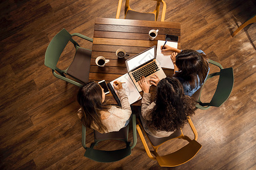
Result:
<svg viewBox="0 0 256 170"><path fill-rule="evenodd" d="M87 83L89 81L91 56L92 51L84 48L77 49L75 57L67 70L67 74Z"/></svg>

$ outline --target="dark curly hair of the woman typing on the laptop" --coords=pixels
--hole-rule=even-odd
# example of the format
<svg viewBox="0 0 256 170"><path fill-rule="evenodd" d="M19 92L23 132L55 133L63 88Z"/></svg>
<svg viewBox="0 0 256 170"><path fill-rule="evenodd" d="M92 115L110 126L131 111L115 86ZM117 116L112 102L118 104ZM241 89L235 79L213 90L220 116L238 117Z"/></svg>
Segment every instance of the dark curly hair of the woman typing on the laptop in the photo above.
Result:
<svg viewBox="0 0 256 170"><path fill-rule="evenodd" d="M188 122L187 116L195 114L195 101L185 96L177 78L164 78L156 87L152 125L155 130L175 131Z"/></svg>

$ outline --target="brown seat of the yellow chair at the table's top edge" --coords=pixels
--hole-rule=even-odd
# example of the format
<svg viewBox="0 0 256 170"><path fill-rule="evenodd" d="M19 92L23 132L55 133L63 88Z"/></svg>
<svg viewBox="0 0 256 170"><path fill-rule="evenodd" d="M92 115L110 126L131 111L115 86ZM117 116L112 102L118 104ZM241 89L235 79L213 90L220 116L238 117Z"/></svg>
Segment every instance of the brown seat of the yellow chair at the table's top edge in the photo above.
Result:
<svg viewBox="0 0 256 170"><path fill-rule="evenodd" d="M125 19L135 19L135 20L155 20L155 14L142 13L133 10L127 11Z"/></svg>

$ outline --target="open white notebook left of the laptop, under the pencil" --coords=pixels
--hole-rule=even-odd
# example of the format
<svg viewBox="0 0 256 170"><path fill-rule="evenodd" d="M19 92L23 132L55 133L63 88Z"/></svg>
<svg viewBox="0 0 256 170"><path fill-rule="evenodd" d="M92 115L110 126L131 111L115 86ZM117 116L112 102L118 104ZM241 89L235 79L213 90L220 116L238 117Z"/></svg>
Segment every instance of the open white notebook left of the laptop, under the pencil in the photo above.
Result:
<svg viewBox="0 0 256 170"><path fill-rule="evenodd" d="M122 76L119 76L119 78L117 78L115 80L119 80L119 82L125 82L122 85L123 85L123 88L125 88L125 91L126 91L126 94L128 96L128 100L129 100L130 104L133 104L135 101L138 101L139 99L142 98L141 95L139 94L137 88L134 86L134 83L131 80L131 78L128 75L128 73L126 73L126 74L124 74ZM113 94L113 91L110 88L110 91L112 91L113 96L114 95L118 96L117 90L115 90L115 88L113 86L113 82L115 80L113 80L112 82L108 83L108 86L110 84L112 89L114 90L115 94ZM118 96L118 98L119 98L119 96ZM117 100L117 99L115 99L115 100ZM117 101L117 103L118 103L118 101Z"/></svg>

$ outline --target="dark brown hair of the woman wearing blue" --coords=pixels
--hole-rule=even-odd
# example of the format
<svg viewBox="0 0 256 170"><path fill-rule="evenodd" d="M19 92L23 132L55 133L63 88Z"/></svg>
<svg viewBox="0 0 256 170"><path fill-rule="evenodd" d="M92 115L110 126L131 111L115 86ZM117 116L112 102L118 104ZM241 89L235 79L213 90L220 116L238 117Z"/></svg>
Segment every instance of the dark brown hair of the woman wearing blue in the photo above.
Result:
<svg viewBox="0 0 256 170"><path fill-rule="evenodd" d="M183 50L176 56L176 66L181 70L176 73L175 77L180 77L185 80L191 89L200 86L204 83L209 70L207 56L200 54L195 50ZM199 80L197 78L199 76Z"/></svg>

